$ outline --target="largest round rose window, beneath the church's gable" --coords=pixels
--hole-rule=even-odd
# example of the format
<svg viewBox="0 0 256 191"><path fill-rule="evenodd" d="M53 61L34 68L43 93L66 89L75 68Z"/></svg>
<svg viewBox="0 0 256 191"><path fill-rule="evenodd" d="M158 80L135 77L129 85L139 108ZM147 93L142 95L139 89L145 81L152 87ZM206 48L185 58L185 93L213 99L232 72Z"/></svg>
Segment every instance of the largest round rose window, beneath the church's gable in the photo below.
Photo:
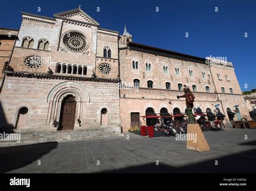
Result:
<svg viewBox="0 0 256 191"><path fill-rule="evenodd" d="M66 35L63 37L63 43L71 52L83 52L89 45L86 37L79 32L66 33Z"/></svg>

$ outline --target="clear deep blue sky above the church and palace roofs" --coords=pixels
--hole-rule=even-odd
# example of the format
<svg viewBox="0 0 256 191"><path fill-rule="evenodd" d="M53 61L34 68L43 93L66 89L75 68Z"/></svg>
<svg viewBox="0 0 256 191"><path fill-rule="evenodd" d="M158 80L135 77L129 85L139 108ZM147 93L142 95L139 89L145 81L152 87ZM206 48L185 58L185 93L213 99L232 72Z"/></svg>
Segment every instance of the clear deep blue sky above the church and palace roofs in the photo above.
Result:
<svg viewBox="0 0 256 191"><path fill-rule="evenodd" d="M0 28L19 29L21 11L53 17L78 5L102 28L123 33L126 23L133 42L203 58L227 57L235 67L242 91L256 87L254 0L9 0L1 1Z"/></svg>

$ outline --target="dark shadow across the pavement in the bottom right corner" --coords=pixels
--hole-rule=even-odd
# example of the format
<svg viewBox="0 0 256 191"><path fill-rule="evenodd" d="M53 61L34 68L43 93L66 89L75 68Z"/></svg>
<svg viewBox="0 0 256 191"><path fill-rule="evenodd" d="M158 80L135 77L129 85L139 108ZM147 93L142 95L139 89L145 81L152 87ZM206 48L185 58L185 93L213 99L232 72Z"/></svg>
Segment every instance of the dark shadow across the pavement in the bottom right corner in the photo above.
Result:
<svg viewBox="0 0 256 191"><path fill-rule="evenodd" d="M256 149L252 149L180 167L169 166L159 161L158 166L156 163L147 163L116 170L105 170L100 173L256 173L256 169L253 168L255 159ZM215 165L216 161L218 161L218 165Z"/></svg>

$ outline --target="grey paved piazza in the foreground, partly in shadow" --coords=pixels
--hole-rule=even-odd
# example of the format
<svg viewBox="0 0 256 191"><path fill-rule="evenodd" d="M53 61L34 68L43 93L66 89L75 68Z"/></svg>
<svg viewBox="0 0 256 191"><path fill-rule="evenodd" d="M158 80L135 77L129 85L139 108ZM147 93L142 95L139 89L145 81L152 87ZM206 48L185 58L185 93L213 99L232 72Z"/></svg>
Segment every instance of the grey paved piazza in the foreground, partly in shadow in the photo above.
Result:
<svg viewBox="0 0 256 191"><path fill-rule="evenodd" d="M229 128L204 135L211 151L189 151L185 141L174 137L148 138L131 133L116 138L2 147L0 173L256 172L256 129Z"/></svg>

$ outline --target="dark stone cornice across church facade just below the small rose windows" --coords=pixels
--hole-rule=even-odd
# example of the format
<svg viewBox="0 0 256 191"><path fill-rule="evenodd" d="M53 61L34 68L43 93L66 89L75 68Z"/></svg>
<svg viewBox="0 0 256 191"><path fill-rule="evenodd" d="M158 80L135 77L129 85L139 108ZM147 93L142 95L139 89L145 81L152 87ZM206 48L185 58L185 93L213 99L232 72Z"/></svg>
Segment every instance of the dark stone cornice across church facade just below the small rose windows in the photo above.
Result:
<svg viewBox="0 0 256 191"><path fill-rule="evenodd" d="M37 78L37 79L56 79L56 80L74 80L74 81L100 81L109 83L119 83L120 79L116 78L88 78L77 76L62 76L48 73L31 73L31 72L13 72L5 71L7 76L21 77L21 78Z"/></svg>

